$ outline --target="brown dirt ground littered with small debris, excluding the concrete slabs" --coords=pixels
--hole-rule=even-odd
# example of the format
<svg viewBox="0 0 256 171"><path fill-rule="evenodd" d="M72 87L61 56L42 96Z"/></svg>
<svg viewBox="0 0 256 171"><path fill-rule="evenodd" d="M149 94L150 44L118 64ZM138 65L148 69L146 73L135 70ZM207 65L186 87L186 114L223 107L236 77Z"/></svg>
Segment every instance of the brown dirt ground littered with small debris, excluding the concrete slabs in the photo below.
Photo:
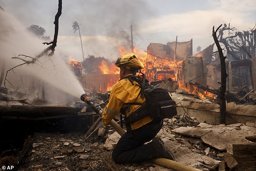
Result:
<svg viewBox="0 0 256 171"><path fill-rule="evenodd" d="M193 117L176 116L164 120L164 128L172 130L181 126L196 126L199 124ZM88 141L81 132L61 134L35 133L27 142L28 152L17 165L18 171L153 171L156 165L151 162L118 165L111 160L112 151L103 148L105 138L114 131L108 128L106 136L94 137ZM191 144L198 153L205 154L208 147L197 139L175 135ZM211 149L210 156L216 160L218 151ZM154 169L155 168L155 169ZM159 168L159 167L158 167ZM170 170L170 169L169 169Z"/></svg>

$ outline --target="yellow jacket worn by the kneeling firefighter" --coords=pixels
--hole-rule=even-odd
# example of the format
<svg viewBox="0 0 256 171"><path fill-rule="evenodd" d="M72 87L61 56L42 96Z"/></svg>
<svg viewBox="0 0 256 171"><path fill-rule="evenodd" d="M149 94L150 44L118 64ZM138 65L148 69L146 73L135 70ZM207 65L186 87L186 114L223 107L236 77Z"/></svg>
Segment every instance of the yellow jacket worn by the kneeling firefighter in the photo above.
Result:
<svg viewBox="0 0 256 171"><path fill-rule="evenodd" d="M131 74L128 74L131 75ZM128 76L127 75L127 76ZM134 81L134 83L138 84L138 82ZM109 97L109 103L104 108L102 121L103 124L106 126L111 119L113 119L116 115L119 115L120 109L126 107L125 103L145 103L146 99L143 97L141 98L140 91L141 88L138 87L136 84L132 85L132 83L128 79L122 79L118 81ZM129 116L133 111L141 107L141 105L130 105L130 112L126 112L126 116ZM153 117L146 116L137 122L131 124L131 129L135 130L140 128L141 126L148 124L153 120Z"/></svg>

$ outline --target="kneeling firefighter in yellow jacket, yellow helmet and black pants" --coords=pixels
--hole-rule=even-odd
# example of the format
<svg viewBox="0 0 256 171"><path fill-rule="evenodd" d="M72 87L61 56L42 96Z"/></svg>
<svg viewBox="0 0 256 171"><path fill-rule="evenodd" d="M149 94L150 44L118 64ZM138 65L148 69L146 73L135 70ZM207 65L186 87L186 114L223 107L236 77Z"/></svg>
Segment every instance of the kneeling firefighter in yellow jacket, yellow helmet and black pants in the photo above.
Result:
<svg viewBox="0 0 256 171"><path fill-rule="evenodd" d="M174 160L172 153L163 145L162 140L158 137L154 138L163 126L163 119L154 119L148 114L148 108L144 109L146 99L141 95L144 87L141 87L138 81L148 84L144 74L141 73L143 66L136 56L129 54L118 58L115 65L120 68L120 80L111 91L102 120L106 126L121 112L124 115L127 132L113 150L113 161L124 164L155 158ZM137 72L142 76L137 76ZM151 140L152 142L149 142ZM145 142L149 143L144 144Z"/></svg>

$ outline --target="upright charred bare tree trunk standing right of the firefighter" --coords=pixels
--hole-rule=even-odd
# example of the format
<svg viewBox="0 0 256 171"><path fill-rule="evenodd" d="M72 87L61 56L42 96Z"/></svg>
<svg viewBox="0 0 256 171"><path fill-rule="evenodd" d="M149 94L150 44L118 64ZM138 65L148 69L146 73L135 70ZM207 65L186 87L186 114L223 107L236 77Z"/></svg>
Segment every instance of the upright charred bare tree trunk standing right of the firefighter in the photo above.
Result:
<svg viewBox="0 0 256 171"><path fill-rule="evenodd" d="M222 52L222 48L220 47L220 43L217 38L217 31L221 27L220 25L216 31L214 30L214 26L212 27L212 37L214 39L214 42L218 48L219 57L220 57L220 66L221 66L221 86L220 86L220 124L226 124L226 98L225 98L225 92L226 92L226 79L227 79L227 71L226 71L226 63L225 58Z"/></svg>

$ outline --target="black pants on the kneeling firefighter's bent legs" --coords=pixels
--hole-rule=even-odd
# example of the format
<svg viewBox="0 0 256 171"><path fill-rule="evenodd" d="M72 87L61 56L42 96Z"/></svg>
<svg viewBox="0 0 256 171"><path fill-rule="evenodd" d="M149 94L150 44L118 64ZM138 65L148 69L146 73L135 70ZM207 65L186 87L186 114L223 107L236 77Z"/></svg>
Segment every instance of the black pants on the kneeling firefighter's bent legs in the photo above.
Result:
<svg viewBox="0 0 256 171"><path fill-rule="evenodd" d="M139 163L143 161L148 161L149 156L153 156L153 148L150 144L144 144L152 140L156 134L161 130L163 122L158 124L158 127L151 129L147 124L132 130L132 137L125 133L118 143L116 144L112 159L115 163Z"/></svg>

